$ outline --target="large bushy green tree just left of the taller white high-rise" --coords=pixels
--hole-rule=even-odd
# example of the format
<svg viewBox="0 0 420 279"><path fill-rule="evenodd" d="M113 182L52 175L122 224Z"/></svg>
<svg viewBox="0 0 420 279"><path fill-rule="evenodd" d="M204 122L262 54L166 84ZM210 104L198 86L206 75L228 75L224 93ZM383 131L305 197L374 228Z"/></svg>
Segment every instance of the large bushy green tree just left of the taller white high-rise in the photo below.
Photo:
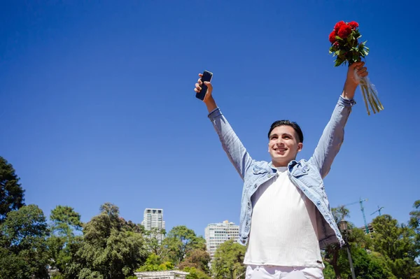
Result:
<svg viewBox="0 0 420 279"><path fill-rule="evenodd" d="M119 208L104 203L101 213L83 227L83 241L69 272L77 278L124 279L146 260L141 234L125 229Z"/></svg>

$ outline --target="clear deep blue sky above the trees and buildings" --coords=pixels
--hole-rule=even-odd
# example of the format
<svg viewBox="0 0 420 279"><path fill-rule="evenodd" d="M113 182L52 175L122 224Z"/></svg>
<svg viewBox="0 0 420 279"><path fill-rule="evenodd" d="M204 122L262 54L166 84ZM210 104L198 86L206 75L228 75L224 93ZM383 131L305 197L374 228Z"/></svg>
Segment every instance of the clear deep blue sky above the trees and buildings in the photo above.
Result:
<svg viewBox="0 0 420 279"><path fill-rule="evenodd" d="M297 121L309 158L341 93L328 34L356 20L385 110L360 90L325 187L332 206L367 198L406 222L419 190L419 3L391 1L2 1L0 155L26 203L68 205L84 222L112 202L141 222L163 208L167 229L197 234L239 222L242 182L193 91L214 96L258 160L274 120ZM102 3L100 3L102 2ZM407 2L408 3L408 2ZM363 218L358 204L350 220Z"/></svg>

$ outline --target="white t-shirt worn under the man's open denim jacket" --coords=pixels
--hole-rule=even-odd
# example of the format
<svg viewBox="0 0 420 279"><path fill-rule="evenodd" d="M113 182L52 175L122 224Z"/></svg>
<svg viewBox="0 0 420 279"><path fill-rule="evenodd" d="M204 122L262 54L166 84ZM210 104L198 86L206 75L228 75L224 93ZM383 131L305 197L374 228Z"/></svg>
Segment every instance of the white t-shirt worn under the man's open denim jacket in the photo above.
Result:
<svg viewBox="0 0 420 279"><path fill-rule="evenodd" d="M290 181L287 167L253 194L253 214L244 264L323 267L316 207Z"/></svg>

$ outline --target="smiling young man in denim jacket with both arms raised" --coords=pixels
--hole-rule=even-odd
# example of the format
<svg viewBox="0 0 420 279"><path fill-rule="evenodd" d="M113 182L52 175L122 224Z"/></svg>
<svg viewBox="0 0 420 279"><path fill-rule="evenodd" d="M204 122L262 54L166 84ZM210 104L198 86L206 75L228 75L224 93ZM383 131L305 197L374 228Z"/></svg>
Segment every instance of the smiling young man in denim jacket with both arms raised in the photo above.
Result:
<svg viewBox="0 0 420 279"><path fill-rule="evenodd" d="M354 74L357 71L357 76ZM276 121L268 133L271 162L255 161L216 106L207 85L204 103L223 149L244 180L239 243L248 244L246 279L323 278L321 249L344 244L330 210L323 178L344 140L358 76L367 76L364 62L349 66L342 95L325 127L314 155L296 161L303 134L295 122ZM202 75L195 92L202 89Z"/></svg>

